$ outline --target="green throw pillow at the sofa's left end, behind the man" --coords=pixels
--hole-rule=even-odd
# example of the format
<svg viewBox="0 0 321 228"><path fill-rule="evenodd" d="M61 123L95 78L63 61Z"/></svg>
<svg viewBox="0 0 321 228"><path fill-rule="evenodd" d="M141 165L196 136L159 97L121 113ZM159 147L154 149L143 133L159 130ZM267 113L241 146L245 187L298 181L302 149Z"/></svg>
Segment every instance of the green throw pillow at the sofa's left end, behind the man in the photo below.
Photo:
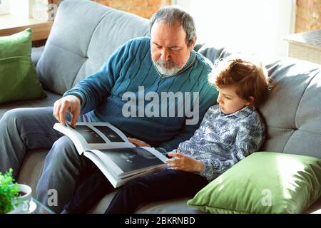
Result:
<svg viewBox="0 0 321 228"><path fill-rule="evenodd" d="M46 96L31 62L31 33L0 36L0 103Z"/></svg>

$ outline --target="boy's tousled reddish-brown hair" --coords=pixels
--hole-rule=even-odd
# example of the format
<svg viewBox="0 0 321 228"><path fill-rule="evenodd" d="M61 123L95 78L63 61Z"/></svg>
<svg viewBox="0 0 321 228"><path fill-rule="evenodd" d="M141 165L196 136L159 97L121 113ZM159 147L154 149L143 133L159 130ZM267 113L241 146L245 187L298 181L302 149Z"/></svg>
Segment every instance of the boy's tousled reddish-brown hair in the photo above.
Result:
<svg viewBox="0 0 321 228"><path fill-rule="evenodd" d="M235 85L240 98L257 107L262 104L272 90L272 80L263 64L243 58L227 58L220 61L210 74L209 82L222 88ZM250 99L253 96L254 102Z"/></svg>

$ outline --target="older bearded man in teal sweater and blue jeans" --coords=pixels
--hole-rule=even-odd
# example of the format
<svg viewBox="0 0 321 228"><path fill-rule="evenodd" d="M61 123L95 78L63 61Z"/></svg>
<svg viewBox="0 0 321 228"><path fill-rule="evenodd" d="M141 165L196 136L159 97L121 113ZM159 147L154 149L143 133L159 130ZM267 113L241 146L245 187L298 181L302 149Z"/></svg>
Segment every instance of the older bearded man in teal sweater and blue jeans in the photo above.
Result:
<svg viewBox="0 0 321 228"><path fill-rule="evenodd" d="M151 38L124 43L98 72L57 100L54 108L16 109L4 115L0 120L0 171L13 167L16 174L27 149L51 147L37 195L47 204L49 190L55 190L58 203L49 206L61 212L79 180L90 178L88 174L97 168L78 155L68 137L53 130L56 120L65 124L65 118L70 118L73 126L76 121L109 122L128 137L139 138L163 152L173 150L193 135L218 95L208 84L210 61L193 51L195 41L195 25L188 13L173 6L160 9L151 19ZM151 101L153 108L148 114L146 95L151 92L159 99ZM168 103L164 96L178 93L185 100ZM134 103L131 109L136 110L128 115L124 106L133 95L137 95L138 105L136 99L130 101ZM168 115L173 108L175 115ZM181 108L188 110L183 116L178 115ZM192 115L197 115L197 121L188 123Z"/></svg>

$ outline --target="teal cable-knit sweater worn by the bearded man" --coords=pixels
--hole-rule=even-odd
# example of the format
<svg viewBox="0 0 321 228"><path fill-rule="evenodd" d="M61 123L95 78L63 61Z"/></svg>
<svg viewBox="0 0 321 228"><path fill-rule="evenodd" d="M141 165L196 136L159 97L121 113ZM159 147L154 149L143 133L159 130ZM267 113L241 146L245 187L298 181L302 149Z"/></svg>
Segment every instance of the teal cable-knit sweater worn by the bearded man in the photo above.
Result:
<svg viewBox="0 0 321 228"><path fill-rule="evenodd" d="M150 42L149 37L126 42L64 96L80 98L81 114L88 113L93 121L109 122L132 138L169 151L193 135L218 91L208 83L210 61L195 51L179 73L162 77L151 60Z"/></svg>

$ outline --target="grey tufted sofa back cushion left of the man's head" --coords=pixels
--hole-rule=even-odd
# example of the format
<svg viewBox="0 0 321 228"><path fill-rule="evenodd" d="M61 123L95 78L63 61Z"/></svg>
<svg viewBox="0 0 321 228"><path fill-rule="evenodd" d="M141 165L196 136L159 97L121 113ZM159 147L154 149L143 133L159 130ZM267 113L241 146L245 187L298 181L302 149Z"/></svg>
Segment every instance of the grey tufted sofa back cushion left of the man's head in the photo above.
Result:
<svg viewBox="0 0 321 228"><path fill-rule="evenodd" d="M131 38L148 36L149 21L88 0L65 0L37 63L46 90L63 94L98 69Z"/></svg>

